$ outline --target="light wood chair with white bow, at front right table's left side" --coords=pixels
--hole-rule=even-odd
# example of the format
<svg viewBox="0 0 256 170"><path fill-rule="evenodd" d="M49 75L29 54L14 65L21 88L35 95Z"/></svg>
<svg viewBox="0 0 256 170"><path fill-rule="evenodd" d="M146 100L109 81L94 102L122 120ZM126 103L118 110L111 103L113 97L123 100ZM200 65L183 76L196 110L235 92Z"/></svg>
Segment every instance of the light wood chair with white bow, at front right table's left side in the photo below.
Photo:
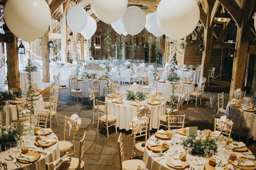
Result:
<svg viewBox="0 0 256 170"><path fill-rule="evenodd" d="M134 149L137 149L141 152L145 151L145 146L141 146L143 142L136 143L136 138L145 136L145 141L147 141L147 132L149 130L148 121L149 119L140 119L137 121L132 121L133 149L132 149L131 159L133 159L133 155L136 154ZM142 156L138 155L138 156L142 158L143 155Z"/></svg>

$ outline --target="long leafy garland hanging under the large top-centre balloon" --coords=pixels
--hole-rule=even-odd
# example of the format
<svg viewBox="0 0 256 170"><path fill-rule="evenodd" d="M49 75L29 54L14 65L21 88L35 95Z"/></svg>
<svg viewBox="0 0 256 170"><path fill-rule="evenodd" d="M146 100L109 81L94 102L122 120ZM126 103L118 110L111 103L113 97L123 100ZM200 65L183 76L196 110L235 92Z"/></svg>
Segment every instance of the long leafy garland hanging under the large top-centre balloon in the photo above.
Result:
<svg viewBox="0 0 256 170"><path fill-rule="evenodd" d="M105 62L106 65L106 71L105 71L105 79L106 79L106 86L109 87L110 84L110 46L111 46L111 38L110 38L110 30L108 28L108 30L106 31L106 33L104 34L104 46L105 46L105 50L108 53L108 59Z"/></svg>

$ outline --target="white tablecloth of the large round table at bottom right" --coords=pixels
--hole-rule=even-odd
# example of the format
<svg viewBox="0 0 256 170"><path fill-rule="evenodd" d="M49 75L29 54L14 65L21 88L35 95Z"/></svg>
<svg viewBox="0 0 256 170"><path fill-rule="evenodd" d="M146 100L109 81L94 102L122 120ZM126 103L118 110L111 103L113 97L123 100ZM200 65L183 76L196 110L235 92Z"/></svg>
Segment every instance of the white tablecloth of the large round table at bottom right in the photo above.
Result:
<svg viewBox="0 0 256 170"><path fill-rule="evenodd" d="M177 130L174 130L174 132L177 131ZM198 131L199 132L199 131ZM176 143L174 142L173 140L176 140L176 141L181 141L181 139L178 139L178 138L183 138L185 136L182 136L182 135L179 135L179 134L176 134L177 136L175 136L177 139L174 139L174 137L172 137L172 140L159 140L160 142L167 142L167 144L170 146L169 147L169 150L165 152L165 155L173 155L176 153L176 155L173 155L173 156L179 156L180 153L184 152L184 149L183 149L183 146L182 145L173 145L173 143ZM155 138L155 135L152 135L150 138L148 138L148 140L146 141L146 145L147 146L147 143L148 142L152 142L152 141L156 141L156 138ZM233 153L233 152L228 152L229 154L230 153ZM244 153L249 153L249 154L252 154L251 151L248 151L248 152L244 152ZM149 151L147 149L147 147L145 147L145 151L144 151L144 155L143 155L143 161L145 162L145 168L147 169L158 169L158 170L169 170L169 169L173 169L171 167L169 167L168 165L166 165L166 159L162 159L160 161L158 161L161 157L152 157L152 155L155 155L156 153L153 153L152 151ZM251 159L255 159L255 157L253 155L243 155L241 152L234 152L234 154L237 155L237 157L239 156L244 156L244 157L248 157L248 158L251 158ZM224 160L224 158L222 158L221 156L219 155L214 155L217 157L216 161L218 161L219 159L221 160ZM189 155L187 155L187 158L189 157ZM197 158L195 156L192 156L193 159ZM208 162L208 160L206 160L205 158L202 158L202 161L204 162L203 165L201 166L198 166L198 165L195 165L193 164L191 161L190 161L190 166L192 166L193 168L195 169L204 169L204 165ZM219 162L219 161L218 161ZM230 169L233 169L233 166L231 164L228 164L226 165L228 168ZM186 168L188 169L188 168Z"/></svg>

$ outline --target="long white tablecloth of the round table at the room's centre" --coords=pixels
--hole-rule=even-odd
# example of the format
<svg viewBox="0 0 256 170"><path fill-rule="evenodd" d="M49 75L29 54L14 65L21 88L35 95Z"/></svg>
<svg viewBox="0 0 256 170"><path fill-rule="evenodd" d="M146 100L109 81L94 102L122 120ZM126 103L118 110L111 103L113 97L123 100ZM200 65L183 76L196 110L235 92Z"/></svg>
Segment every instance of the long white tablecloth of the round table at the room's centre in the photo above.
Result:
<svg viewBox="0 0 256 170"><path fill-rule="evenodd" d="M106 98L108 103L108 114L117 117L116 126L119 129L130 130L130 123L133 117L137 116L137 111L139 107L131 106L130 101L124 99L123 104L116 104L111 102L112 99ZM146 101L142 101L145 104ZM148 106L152 106L147 104ZM159 117L166 113L166 101L161 102L158 106L152 106L152 114L150 118L150 130L152 128L157 129L159 125Z"/></svg>

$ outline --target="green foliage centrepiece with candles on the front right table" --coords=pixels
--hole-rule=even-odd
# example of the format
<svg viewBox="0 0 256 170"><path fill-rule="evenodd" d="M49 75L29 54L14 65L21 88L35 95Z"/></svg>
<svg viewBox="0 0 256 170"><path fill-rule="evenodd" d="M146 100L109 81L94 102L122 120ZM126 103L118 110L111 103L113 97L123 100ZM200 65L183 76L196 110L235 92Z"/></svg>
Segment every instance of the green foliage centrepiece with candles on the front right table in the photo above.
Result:
<svg viewBox="0 0 256 170"><path fill-rule="evenodd" d="M192 148L192 155L203 155L209 150L216 152L218 148L215 139L208 138L208 136L205 139L196 141L195 135L189 135L187 138L182 139L182 145Z"/></svg>

